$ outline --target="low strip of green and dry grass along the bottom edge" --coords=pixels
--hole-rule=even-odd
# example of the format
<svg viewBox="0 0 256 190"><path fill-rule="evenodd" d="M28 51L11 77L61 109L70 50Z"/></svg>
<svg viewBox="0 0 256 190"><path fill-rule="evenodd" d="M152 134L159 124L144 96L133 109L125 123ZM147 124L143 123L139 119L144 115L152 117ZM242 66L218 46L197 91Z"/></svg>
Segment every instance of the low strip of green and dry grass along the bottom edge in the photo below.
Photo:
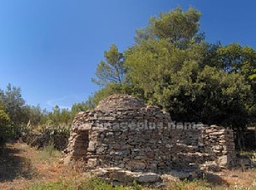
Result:
<svg viewBox="0 0 256 190"><path fill-rule="evenodd" d="M136 181L133 182L131 187L128 186L114 186L110 183L102 181L96 177L72 177L67 179L59 179L55 182L39 182L34 183L23 190L249 190L255 189L256 179L251 187L243 186L216 186L212 185L205 180L194 180L194 181L172 181L166 184L166 187L154 188L154 187L143 187L138 185Z"/></svg>

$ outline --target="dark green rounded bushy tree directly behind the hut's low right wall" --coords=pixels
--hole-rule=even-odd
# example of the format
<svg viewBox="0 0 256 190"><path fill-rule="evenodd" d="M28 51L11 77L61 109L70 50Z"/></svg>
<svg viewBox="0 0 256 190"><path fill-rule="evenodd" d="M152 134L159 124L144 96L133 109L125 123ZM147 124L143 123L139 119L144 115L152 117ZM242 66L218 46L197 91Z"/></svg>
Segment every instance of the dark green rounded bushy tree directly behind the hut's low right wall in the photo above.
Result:
<svg viewBox="0 0 256 190"><path fill-rule="evenodd" d="M177 72L168 101L174 118L242 128L247 124L246 105L252 101L250 85L236 73L205 66L195 72L184 66ZM194 72L194 73L193 73Z"/></svg>

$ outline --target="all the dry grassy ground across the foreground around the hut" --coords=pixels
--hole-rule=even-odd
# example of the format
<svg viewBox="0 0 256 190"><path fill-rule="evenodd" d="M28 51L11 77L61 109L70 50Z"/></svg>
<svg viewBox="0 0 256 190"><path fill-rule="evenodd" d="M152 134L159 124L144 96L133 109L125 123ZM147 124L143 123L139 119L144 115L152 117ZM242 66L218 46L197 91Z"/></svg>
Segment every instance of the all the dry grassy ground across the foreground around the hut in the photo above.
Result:
<svg viewBox="0 0 256 190"><path fill-rule="evenodd" d="M0 156L0 189L21 190L155 190L134 182L131 187L112 187L90 175L59 162L61 153L53 146L44 150L23 143L8 144ZM224 170L207 174L204 180L170 181L164 189L256 189L256 170Z"/></svg>

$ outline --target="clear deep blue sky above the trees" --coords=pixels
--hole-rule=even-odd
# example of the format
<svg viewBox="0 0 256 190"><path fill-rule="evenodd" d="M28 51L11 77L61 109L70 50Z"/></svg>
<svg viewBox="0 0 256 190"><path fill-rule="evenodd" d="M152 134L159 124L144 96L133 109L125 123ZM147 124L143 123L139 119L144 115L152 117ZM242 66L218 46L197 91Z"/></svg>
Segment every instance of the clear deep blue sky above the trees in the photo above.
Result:
<svg viewBox="0 0 256 190"><path fill-rule="evenodd" d="M256 49L253 0L0 0L0 89L19 86L27 104L48 110L85 101L103 52L125 50L150 16L177 5L201 11L208 42Z"/></svg>

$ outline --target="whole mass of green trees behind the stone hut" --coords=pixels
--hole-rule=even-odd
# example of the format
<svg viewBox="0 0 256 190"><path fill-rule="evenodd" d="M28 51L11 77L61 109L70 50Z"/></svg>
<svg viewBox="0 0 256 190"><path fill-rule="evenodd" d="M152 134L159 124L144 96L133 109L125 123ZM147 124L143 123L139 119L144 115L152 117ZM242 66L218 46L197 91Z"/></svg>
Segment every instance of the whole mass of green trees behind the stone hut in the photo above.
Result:
<svg viewBox="0 0 256 190"><path fill-rule="evenodd" d="M152 17L123 54L112 45L103 62L116 61L111 66L99 63L96 77L105 83L92 99L126 93L165 109L176 121L239 130L253 124L256 51L238 43L207 43L200 18L195 9L177 8ZM122 64L117 55L122 55ZM124 72L122 83L109 80L116 78L116 66Z"/></svg>

